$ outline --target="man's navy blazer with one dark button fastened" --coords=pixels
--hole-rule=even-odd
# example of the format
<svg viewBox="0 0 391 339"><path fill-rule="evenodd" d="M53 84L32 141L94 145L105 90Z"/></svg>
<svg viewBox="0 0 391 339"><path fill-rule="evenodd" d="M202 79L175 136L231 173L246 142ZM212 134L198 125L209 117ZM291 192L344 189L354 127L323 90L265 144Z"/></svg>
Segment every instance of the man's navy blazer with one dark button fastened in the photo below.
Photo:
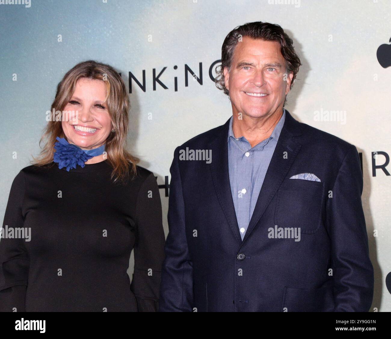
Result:
<svg viewBox="0 0 391 339"><path fill-rule="evenodd" d="M176 148L159 311L360 311L373 298L357 149L285 122L242 241L228 175L228 123ZM212 162L179 151L212 151ZM321 182L290 179L315 174ZM300 227L301 239L268 229Z"/></svg>

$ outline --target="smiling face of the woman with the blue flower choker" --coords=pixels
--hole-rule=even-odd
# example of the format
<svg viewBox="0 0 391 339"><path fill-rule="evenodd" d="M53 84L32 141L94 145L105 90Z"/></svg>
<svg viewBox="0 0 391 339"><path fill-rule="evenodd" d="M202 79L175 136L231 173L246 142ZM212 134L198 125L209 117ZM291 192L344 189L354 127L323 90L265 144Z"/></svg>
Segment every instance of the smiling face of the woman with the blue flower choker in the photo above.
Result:
<svg viewBox="0 0 391 339"><path fill-rule="evenodd" d="M64 107L65 111L75 113L72 118L69 114L69 121L62 121L70 144L94 149L106 143L112 124L105 98L106 85L103 80L81 78L77 81L74 94Z"/></svg>

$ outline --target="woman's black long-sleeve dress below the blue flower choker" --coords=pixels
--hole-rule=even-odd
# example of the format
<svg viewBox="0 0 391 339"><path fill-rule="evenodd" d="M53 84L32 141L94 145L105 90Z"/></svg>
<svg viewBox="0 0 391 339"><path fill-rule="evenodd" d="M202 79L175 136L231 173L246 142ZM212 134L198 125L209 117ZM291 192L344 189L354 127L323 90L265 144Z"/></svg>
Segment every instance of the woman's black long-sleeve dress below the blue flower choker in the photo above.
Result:
<svg viewBox="0 0 391 339"><path fill-rule="evenodd" d="M158 185L139 166L134 179L114 184L111 170L107 161L69 172L32 165L15 177L0 240L0 311L157 311Z"/></svg>

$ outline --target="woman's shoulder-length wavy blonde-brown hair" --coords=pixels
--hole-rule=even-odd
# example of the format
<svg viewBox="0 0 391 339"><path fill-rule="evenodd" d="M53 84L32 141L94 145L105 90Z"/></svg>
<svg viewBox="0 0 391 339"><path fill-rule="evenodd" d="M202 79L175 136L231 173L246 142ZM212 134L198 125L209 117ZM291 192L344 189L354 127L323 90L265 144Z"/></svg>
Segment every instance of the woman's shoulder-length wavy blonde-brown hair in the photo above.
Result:
<svg viewBox="0 0 391 339"><path fill-rule="evenodd" d="M62 112L64 110L75 91L77 81L81 78L102 80L106 84L106 105L115 130L106 139L106 161L113 167L111 179L114 182L125 181L126 178L136 174L136 164L139 159L126 150L130 102L125 83L113 67L94 60L77 64L65 74L57 85L56 98L54 98L50 112L53 110ZM41 147L39 156L37 158L33 157L33 165L44 166L53 162L56 137L65 138L61 120L48 122L41 140L39 140L39 146L41 146L41 142L44 142L45 145Z"/></svg>

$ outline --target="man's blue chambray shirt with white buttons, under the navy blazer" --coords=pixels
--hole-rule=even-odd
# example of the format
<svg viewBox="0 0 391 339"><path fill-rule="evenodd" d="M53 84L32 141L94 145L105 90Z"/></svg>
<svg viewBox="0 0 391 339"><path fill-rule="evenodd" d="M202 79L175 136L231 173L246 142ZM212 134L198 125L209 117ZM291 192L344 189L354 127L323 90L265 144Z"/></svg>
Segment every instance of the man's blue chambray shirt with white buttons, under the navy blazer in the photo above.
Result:
<svg viewBox="0 0 391 339"><path fill-rule="evenodd" d="M245 137L235 138L232 119L228 129L228 171L236 218L242 240L246 234L256 201L285 121L283 114L271 136L251 148Z"/></svg>

